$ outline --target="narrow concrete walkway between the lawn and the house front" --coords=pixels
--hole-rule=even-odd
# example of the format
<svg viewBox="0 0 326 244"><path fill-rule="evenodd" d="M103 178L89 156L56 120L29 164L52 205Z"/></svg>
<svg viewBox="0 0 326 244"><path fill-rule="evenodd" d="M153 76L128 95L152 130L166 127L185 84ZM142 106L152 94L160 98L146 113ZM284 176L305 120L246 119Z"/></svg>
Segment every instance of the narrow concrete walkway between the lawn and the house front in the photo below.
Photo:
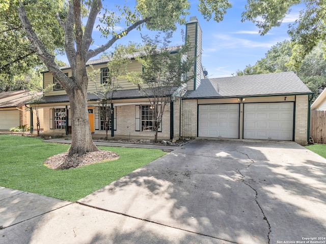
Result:
<svg viewBox="0 0 326 244"><path fill-rule="evenodd" d="M43 142L56 142L56 143L66 143L71 144L71 140L67 138L55 138L55 139L46 139ZM141 143L119 143L119 142L107 142L107 141L96 141L94 140L95 145L97 146L120 146L120 147L135 147L135 148L150 148L150 149L162 149L167 151L172 151L177 149L179 146L173 145L157 145L157 144L141 144Z"/></svg>

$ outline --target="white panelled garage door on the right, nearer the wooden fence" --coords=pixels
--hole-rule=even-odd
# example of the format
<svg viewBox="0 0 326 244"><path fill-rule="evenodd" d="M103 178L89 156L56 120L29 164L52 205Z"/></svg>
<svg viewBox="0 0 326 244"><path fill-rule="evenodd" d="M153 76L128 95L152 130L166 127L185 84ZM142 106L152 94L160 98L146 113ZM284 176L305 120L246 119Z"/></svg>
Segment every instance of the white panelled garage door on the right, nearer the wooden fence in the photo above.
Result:
<svg viewBox="0 0 326 244"><path fill-rule="evenodd" d="M244 104L243 138L293 140L293 103Z"/></svg>

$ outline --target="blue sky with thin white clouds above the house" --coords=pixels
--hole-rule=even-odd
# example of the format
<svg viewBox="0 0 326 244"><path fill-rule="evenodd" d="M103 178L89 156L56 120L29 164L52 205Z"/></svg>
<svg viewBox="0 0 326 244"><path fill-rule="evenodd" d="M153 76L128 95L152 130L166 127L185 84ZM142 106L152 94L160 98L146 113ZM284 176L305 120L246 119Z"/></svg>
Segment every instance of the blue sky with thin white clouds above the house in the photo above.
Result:
<svg viewBox="0 0 326 244"><path fill-rule="evenodd" d="M103 6L106 3L108 6L112 5L111 1L105 0ZM246 68L246 65L254 65L257 60L265 56L272 46L289 39L288 24L298 17L299 6L292 8L291 13L284 19L280 27L275 27L265 36L260 36L254 23L241 22L241 13L244 11L246 3L247 0L232 1L233 7L228 10L224 20L216 23L213 20L207 22L197 10L198 1L191 1L191 14L187 16L187 20L191 16L197 16L202 28L202 65L208 71L209 78L231 76L237 70ZM185 26L178 26L171 46L182 44L181 28L185 29ZM150 36L155 34L147 29L143 29L142 33ZM101 38L100 32L96 29L94 29L93 38L95 42L91 48L107 42L106 39ZM129 41L141 43L140 32L133 30L116 44L126 44ZM65 57L58 58L68 63Z"/></svg>

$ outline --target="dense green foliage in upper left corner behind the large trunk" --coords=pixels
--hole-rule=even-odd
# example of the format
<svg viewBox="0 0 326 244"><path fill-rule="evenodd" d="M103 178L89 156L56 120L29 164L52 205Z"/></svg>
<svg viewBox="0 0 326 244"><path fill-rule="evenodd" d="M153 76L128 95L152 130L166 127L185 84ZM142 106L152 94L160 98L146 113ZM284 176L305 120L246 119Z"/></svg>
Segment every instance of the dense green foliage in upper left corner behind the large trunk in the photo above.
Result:
<svg viewBox="0 0 326 244"><path fill-rule="evenodd" d="M64 1L24 1L23 4L47 49L53 54L62 52L63 32L58 21L48 16L56 12L65 14ZM18 1L2 1L0 4L0 92L39 86L39 70L44 69L36 50L26 38L17 6Z"/></svg>

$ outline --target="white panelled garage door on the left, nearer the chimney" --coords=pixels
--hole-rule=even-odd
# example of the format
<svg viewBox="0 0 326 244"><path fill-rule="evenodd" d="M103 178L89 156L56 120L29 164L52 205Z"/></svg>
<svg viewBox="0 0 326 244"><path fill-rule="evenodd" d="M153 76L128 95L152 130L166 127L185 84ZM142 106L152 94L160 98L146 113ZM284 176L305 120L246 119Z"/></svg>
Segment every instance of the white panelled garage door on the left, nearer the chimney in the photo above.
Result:
<svg viewBox="0 0 326 244"><path fill-rule="evenodd" d="M239 138L239 104L199 105L198 136Z"/></svg>

